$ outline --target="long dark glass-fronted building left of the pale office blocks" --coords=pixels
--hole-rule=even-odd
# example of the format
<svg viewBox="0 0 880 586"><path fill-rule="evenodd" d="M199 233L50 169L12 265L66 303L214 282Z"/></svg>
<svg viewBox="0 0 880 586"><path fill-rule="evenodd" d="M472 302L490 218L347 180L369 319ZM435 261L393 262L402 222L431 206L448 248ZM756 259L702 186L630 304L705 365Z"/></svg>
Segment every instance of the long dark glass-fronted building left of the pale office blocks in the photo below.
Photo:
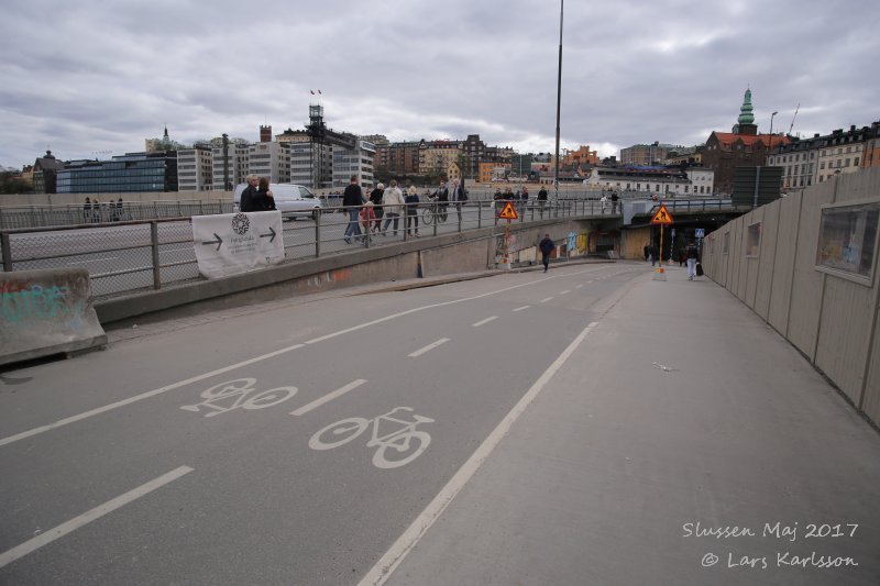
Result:
<svg viewBox="0 0 880 586"><path fill-rule="evenodd" d="M110 161L73 161L58 172L58 194L176 191L177 155L128 153Z"/></svg>

